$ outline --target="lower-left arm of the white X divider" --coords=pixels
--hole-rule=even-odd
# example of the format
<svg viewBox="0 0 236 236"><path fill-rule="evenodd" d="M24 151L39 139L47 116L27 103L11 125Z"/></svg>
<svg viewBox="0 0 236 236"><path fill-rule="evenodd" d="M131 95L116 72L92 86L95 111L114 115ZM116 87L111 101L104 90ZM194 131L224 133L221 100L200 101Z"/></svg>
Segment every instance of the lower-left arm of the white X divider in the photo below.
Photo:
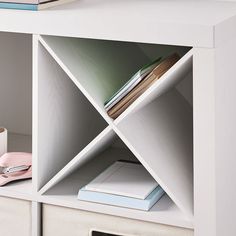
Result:
<svg viewBox="0 0 236 236"><path fill-rule="evenodd" d="M72 174L76 169L79 169L85 163L93 158L96 158L99 153L108 148L114 141L115 132L110 126L102 131L92 142L90 142L75 158L73 158L61 171L59 171L41 190L43 194L48 189L52 188L62 179Z"/></svg>

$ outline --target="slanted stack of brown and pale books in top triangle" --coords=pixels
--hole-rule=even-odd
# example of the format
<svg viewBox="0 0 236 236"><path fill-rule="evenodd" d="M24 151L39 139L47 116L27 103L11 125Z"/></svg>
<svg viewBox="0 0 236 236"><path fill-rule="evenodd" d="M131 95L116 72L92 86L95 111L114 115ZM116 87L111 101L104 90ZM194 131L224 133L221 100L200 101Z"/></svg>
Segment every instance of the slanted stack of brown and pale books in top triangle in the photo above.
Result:
<svg viewBox="0 0 236 236"><path fill-rule="evenodd" d="M179 59L180 56L174 53L165 59L158 58L140 69L117 93L105 102L104 106L108 115L116 119Z"/></svg>

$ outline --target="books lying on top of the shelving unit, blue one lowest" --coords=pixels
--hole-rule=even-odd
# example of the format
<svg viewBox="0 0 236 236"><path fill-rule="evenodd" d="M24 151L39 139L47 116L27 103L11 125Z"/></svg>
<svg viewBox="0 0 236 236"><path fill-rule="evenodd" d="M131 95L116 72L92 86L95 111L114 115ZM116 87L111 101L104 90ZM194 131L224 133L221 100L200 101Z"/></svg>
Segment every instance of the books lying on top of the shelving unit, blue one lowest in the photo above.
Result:
<svg viewBox="0 0 236 236"><path fill-rule="evenodd" d="M38 11L71 1L72 0L1 0L0 8Z"/></svg>

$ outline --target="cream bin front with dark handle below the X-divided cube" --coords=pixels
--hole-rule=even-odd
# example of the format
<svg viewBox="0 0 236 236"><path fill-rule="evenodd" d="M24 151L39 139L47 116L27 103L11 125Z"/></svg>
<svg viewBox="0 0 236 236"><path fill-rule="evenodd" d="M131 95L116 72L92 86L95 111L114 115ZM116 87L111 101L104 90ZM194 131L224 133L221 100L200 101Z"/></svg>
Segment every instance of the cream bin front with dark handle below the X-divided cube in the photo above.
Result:
<svg viewBox="0 0 236 236"><path fill-rule="evenodd" d="M193 236L189 229L43 205L43 236L95 236L102 233L112 236Z"/></svg>

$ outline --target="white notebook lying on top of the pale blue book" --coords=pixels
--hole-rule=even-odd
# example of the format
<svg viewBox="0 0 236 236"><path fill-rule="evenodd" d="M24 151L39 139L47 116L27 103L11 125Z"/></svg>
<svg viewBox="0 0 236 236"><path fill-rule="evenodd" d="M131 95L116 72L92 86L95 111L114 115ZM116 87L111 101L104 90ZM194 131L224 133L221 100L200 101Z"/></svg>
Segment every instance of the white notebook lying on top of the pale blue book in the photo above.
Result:
<svg viewBox="0 0 236 236"><path fill-rule="evenodd" d="M84 187L84 190L146 199L158 183L139 163L117 161Z"/></svg>

